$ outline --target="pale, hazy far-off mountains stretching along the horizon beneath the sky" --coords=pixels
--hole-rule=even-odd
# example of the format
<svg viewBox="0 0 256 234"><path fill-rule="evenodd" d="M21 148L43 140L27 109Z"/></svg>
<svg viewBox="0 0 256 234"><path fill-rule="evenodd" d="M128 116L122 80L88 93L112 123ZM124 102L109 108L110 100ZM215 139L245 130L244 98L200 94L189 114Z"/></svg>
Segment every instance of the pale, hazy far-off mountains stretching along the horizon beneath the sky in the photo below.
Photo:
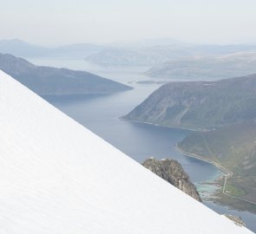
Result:
<svg viewBox="0 0 256 234"><path fill-rule="evenodd" d="M46 48L19 39L0 41L0 53L24 58L85 59L104 66L147 67L146 75L163 79L216 80L256 73L256 45L197 45L171 38L75 43Z"/></svg>

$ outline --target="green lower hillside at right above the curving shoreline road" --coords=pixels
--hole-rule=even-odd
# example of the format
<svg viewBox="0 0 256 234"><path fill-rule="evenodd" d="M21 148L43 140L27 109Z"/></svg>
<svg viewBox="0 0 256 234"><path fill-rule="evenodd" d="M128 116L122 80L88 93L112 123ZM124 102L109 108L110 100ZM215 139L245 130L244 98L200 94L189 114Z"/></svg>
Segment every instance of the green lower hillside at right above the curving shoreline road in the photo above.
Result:
<svg viewBox="0 0 256 234"><path fill-rule="evenodd" d="M255 120L193 133L178 146L187 153L210 159L231 171L232 176L226 182L226 194L256 203ZM256 212L256 206L253 209Z"/></svg>

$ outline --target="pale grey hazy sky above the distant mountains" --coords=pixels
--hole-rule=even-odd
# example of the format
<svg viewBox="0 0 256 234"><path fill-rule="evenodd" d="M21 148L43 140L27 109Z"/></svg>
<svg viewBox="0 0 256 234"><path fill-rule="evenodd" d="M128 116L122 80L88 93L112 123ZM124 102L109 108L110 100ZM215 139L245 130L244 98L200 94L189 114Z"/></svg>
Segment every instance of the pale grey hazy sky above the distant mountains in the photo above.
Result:
<svg viewBox="0 0 256 234"><path fill-rule="evenodd" d="M256 43L256 0L0 0L0 40Z"/></svg>

